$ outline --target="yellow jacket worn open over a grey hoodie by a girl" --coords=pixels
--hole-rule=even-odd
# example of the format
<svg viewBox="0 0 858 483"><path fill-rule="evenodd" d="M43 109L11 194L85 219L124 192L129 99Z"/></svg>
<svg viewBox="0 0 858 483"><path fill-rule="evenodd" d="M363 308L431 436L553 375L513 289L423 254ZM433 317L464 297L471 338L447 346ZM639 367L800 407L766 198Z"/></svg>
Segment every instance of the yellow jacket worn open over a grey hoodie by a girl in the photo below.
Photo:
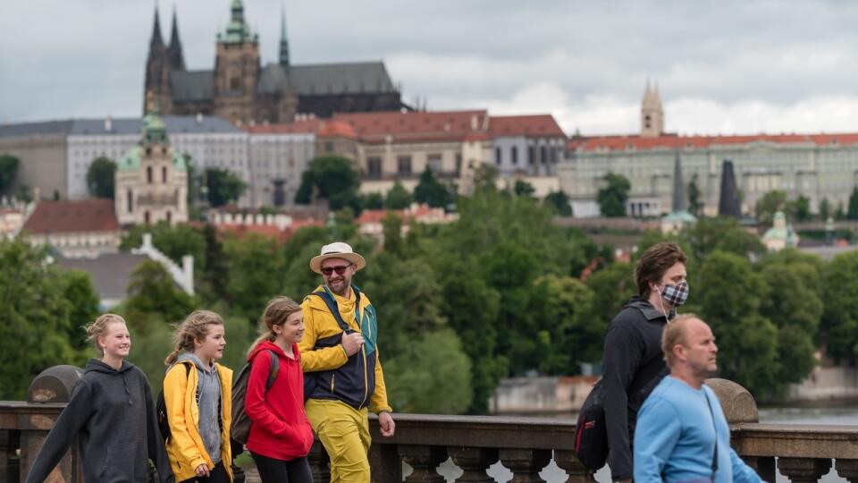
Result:
<svg viewBox="0 0 858 483"><path fill-rule="evenodd" d="M185 369L184 364L190 365L190 370ZM232 370L220 364L216 364L215 368L221 380L221 462L231 481ZM206 463L209 470L214 469L214 462L206 453L203 438L199 435L197 385L197 368L189 360L176 363L164 377L164 405L167 409L167 420L170 422L167 456L170 457L176 481L197 478L195 470L203 463Z"/></svg>

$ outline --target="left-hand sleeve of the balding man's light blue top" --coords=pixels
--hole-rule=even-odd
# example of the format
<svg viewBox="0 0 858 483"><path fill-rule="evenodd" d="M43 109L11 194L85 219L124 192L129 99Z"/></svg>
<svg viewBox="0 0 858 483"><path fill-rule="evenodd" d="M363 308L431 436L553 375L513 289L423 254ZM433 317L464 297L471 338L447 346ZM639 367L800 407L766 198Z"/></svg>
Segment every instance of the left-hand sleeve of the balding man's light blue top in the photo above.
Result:
<svg viewBox="0 0 858 483"><path fill-rule="evenodd" d="M644 402L635 428L635 483L661 483L661 471L681 430L679 415L669 402L658 397Z"/></svg>

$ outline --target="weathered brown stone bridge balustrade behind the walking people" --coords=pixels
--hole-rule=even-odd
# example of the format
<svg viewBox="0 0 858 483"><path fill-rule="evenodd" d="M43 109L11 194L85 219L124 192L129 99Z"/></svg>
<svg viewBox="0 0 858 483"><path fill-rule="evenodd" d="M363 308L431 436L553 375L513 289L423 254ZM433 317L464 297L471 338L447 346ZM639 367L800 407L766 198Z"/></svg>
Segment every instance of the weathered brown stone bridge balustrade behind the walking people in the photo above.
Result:
<svg viewBox="0 0 858 483"><path fill-rule="evenodd" d="M68 397L73 377L68 370L50 377L46 373L30 386L29 402L0 402L0 481L23 481L63 410L63 403L40 401ZM762 479L774 481L779 471L793 482L817 481L833 467L841 478L858 482L858 426L760 424L751 394L722 379L709 384L731 423L733 447ZM403 462L413 469L407 482L442 483L446 477L488 483L494 479L486 471L497 462L512 473L513 483L539 482L543 481L539 473L552 460L556 465L551 465L552 480L594 481L572 453L574 420L398 414L396 421L396 435L390 438L381 436L375 419L370 421L370 464L376 483L402 481ZM315 481L328 481L327 456L318 443L309 460ZM72 448L55 470L56 480L79 482L78 468L78 453Z"/></svg>

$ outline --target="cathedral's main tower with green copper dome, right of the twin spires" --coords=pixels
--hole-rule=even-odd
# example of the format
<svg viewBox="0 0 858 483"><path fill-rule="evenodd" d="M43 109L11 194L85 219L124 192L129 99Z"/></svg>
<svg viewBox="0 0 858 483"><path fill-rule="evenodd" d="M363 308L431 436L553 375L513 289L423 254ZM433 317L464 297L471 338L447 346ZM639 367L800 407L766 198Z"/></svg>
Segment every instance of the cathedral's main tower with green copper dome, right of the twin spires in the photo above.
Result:
<svg viewBox="0 0 858 483"><path fill-rule="evenodd" d="M214 61L214 114L231 123L253 120L259 80L259 36L244 21L244 4L232 0L231 19L217 34Z"/></svg>

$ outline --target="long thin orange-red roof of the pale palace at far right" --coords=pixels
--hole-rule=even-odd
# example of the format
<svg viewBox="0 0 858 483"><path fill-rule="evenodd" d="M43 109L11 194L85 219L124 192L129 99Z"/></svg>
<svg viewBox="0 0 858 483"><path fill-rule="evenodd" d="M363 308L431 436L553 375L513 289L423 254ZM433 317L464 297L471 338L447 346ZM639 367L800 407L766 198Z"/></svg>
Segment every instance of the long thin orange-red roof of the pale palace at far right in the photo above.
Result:
<svg viewBox="0 0 858 483"><path fill-rule="evenodd" d="M771 142L777 144L814 144L828 146L832 144L858 144L858 133L838 134L744 134L733 136L677 136L666 134L658 138L641 136L601 136L593 138L574 138L568 141L570 151L625 151L627 149L682 149L711 148L749 144L752 142Z"/></svg>

